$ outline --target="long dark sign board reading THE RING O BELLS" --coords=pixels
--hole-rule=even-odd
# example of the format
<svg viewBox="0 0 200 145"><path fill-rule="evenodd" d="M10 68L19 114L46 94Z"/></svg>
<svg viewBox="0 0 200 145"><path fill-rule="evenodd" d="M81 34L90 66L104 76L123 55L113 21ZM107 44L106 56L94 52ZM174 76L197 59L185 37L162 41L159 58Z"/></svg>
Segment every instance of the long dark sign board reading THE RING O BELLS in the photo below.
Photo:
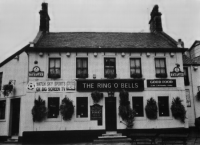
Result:
<svg viewBox="0 0 200 145"><path fill-rule="evenodd" d="M143 91L144 80L133 79L113 79L113 80L77 80L77 91L92 92L95 90L105 91L121 91L125 89L129 92Z"/></svg>

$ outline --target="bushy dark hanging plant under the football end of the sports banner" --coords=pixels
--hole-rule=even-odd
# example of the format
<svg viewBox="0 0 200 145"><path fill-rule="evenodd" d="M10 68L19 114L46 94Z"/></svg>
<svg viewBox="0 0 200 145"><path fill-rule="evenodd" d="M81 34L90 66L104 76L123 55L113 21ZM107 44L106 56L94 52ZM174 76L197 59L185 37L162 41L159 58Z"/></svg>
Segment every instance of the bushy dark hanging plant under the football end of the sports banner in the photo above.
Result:
<svg viewBox="0 0 200 145"><path fill-rule="evenodd" d="M38 100L35 99L34 106L32 108L32 115L34 122L41 122L47 116L47 107L45 106L45 101L39 96Z"/></svg>

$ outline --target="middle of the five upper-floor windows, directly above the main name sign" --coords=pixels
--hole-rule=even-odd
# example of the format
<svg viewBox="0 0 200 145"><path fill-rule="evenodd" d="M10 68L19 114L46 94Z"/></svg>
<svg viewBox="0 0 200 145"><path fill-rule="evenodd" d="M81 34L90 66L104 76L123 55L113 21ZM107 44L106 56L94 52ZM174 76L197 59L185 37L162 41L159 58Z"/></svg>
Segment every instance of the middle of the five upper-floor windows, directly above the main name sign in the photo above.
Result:
<svg viewBox="0 0 200 145"><path fill-rule="evenodd" d="M104 58L104 77L115 78L116 77L116 63L115 58Z"/></svg>

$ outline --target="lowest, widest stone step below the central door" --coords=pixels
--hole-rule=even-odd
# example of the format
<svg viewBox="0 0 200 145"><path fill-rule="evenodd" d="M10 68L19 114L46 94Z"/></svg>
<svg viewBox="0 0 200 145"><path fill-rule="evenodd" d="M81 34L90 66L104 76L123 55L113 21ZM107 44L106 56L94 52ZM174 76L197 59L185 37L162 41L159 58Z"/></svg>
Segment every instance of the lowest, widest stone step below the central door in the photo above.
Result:
<svg viewBox="0 0 200 145"><path fill-rule="evenodd" d="M93 143L94 144L98 144L98 143L126 143L126 142L131 142L130 138L115 138L115 139L98 139L98 140L94 140Z"/></svg>

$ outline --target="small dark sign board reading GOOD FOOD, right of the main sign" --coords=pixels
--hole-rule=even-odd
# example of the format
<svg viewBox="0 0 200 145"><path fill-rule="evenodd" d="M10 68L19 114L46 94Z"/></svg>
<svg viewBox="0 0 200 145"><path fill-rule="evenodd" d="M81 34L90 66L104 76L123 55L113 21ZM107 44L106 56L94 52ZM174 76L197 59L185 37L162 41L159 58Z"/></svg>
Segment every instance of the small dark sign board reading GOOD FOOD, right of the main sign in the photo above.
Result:
<svg viewBox="0 0 200 145"><path fill-rule="evenodd" d="M175 79L147 80L147 87L176 87Z"/></svg>

